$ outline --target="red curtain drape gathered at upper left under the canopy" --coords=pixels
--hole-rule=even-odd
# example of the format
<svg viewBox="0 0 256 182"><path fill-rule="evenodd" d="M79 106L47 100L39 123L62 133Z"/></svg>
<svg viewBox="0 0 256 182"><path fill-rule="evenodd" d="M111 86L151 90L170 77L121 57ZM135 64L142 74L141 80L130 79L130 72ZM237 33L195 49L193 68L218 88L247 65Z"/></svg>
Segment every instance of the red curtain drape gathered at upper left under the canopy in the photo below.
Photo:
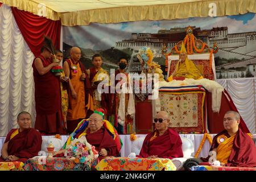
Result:
<svg viewBox="0 0 256 182"><path fill-rule="evenodd" d="M60 20L51 20L11 7L19 30L34 56L40 55L44 35L52 39L56 49L60 48Z"/></svg>

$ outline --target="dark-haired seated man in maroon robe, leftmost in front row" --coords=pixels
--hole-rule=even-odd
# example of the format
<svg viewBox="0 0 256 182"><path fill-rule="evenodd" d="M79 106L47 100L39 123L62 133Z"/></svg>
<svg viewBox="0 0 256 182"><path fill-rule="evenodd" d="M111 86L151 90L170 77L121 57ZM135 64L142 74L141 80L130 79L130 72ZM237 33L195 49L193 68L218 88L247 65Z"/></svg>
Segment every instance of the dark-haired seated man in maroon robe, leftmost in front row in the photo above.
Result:
<svg viewBox="0 0 256 182"><path fill-rule="evenodd" d="M31 128L31 115L26 111L18 114L19 129L11 129L2 147L0 162L26 162L38 155L41 150L42 136Z"/></svg>

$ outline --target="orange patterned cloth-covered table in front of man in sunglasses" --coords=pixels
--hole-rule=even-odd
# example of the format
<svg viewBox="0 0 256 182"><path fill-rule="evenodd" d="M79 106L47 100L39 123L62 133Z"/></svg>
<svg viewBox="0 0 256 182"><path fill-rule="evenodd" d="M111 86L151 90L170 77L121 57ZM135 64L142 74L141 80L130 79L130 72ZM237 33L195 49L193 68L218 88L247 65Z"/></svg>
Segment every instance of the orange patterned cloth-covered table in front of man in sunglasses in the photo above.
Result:
<svg viewBox="0 0 256 182"><path fill-rule="evenodd" d="M105 158L97 164L98 171L175 171L170 159L163 158Z"/></svg>

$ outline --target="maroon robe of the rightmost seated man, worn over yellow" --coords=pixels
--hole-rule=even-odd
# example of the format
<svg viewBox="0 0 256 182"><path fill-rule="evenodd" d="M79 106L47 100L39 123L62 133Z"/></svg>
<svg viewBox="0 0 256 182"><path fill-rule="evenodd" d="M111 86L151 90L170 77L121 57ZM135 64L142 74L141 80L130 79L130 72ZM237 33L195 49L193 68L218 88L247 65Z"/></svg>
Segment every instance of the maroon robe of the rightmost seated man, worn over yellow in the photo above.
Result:
<svg viewBox="0 0 256 182"><path fill-rule="evenodd" d="M230 137L228 131L224 130L221 133L218 133L212 140L212 146L210 151L213 148L218 147L217 138L220 135L225 135ZM208 162L207 158L201 158L204 162ZM233 148L228 159L226 166L232 167L256 167L256 147L253 142L253 139L245 133L241 128L238 129L236 136L234 137Z"/></svg>

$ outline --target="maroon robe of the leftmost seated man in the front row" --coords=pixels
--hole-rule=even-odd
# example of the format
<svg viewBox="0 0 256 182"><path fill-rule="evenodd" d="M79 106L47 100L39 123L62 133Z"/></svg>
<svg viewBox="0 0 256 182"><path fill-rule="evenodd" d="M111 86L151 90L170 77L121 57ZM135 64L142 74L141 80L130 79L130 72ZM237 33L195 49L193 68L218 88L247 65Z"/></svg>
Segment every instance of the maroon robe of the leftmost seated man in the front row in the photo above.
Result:
<svg viewBox="0 0 256 182"><path fill-rule="evenodd" d="M25 163L27 159L38 155L38 152L41 150L42 136L35 129L28 129L19 132L15 137L10 139L11 134L13 134L15 130L16 129L11 129L6 136L5 143L9 142L7 152L8 155L15 155L19 158L15 161ZM5 162L2 156L0 162Z"/></svg>

